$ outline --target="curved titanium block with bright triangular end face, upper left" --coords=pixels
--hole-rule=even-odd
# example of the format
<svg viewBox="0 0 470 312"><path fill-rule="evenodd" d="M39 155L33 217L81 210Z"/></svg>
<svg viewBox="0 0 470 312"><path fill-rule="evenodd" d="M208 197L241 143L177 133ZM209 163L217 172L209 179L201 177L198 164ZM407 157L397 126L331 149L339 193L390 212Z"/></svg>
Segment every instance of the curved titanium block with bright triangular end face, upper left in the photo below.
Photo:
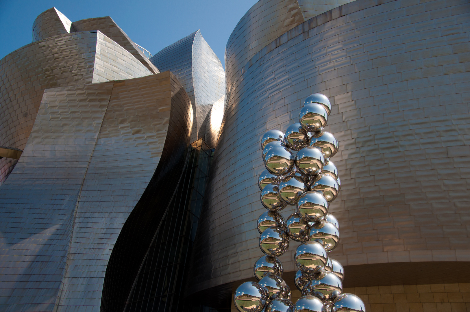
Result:
<svg viewBox="0 0 470 312"><path fill-rule="evenodd" d="M150 74L100 31L56 35L26 45L0 60L0 146L24 149L44 89ZM0 184L15 164L11 158L0 159Z"/></svg>

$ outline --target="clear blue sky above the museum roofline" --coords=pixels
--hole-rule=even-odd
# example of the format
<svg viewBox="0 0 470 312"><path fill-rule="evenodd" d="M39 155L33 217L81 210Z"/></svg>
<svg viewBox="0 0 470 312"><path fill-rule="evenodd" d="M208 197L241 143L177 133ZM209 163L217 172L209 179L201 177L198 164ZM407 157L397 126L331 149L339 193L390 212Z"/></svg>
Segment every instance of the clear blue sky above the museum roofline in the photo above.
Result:
<svg viewBox="0 0 470 312"><path fill-rule="evenodd" d="M137 44L155 54L200 29L222 64L228 37L257 0L0 0L0 58L31 43L36 16L55 7L72 22L111 16ZM225 67L225 66L224 66Z"/></svg>

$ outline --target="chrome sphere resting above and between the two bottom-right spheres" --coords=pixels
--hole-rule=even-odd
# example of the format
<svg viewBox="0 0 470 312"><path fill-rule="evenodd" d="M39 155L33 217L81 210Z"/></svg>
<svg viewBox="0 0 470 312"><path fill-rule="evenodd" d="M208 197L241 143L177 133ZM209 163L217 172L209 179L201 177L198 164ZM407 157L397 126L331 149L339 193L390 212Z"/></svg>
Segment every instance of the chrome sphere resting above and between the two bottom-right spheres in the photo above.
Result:
<svg viewBox="0 0 470 312"><path fill-rule="evenodd" d="M335 273L321 270L305 285L302 295L313 295L321 301L333 301L343 292L343 283Z"/></svg>

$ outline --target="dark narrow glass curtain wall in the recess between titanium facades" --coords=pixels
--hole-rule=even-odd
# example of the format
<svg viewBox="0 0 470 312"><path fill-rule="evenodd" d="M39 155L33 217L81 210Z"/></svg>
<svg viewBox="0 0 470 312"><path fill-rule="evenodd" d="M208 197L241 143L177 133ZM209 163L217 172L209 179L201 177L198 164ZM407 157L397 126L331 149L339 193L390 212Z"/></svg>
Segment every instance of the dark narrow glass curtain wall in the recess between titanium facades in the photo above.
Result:
<svg viewBox="0 0 470 312"><path fill-rule="evenodd" d="M212 310L183 300L187 261L214 152L203 139L196 140L190 148L185 172L134 281L125 312Z"/></svg>

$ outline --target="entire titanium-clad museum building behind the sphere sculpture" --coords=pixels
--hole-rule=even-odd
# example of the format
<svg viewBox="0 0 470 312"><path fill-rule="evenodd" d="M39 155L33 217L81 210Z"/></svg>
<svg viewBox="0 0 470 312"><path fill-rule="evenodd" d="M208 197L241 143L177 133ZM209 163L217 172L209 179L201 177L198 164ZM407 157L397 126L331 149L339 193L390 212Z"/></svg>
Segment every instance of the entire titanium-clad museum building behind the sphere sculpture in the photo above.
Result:
<svg viewBox="0 0 470 312"><path fill-rule="evenodd" d="M470 311L467 0L259 0L225 70L200 31L151 55L109 16L51 8L0 77L0 311L236 311L263 255L261 137L314 93L345 292Z"/></svg>

